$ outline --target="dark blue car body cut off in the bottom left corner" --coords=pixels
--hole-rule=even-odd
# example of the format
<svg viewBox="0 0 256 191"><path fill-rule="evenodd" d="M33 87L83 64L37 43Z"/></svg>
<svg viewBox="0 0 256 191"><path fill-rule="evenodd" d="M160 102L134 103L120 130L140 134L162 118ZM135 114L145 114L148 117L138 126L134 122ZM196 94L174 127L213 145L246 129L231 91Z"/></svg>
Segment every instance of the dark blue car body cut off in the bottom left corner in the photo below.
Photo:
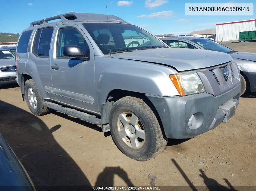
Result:
<svg viewBox="0 0 256 191"><path fill-rule="evenodd" d="M2 190L35 191L22 163L0 133L0 186Z"/></svg>

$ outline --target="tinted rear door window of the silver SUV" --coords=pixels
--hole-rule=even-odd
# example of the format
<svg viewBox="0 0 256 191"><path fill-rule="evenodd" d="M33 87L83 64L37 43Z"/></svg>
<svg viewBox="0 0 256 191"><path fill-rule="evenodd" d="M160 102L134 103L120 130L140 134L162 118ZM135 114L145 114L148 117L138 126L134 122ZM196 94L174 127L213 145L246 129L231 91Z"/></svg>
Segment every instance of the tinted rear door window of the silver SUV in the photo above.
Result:
<svg viewBox="0 0 256 191"><path fill-rule="evenodd" d="M49 57L53 27L39 29L36 33L33 53L37 56Z"/></svg>

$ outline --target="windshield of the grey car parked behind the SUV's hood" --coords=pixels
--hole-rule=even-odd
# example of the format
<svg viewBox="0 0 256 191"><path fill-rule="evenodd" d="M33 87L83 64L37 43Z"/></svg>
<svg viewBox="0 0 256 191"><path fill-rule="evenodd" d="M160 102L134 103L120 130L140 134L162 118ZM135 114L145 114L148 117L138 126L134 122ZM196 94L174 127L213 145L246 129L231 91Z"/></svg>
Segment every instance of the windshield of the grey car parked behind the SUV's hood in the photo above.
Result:
<svg viewBox="0 0 256 191"><path fill-rule="evenodd" d="M212 40L205 39L205 38L193 39L191 41L193 41L194 43L199 44L200 46L202 46L206 50L214 50L214 51L218 51L218 52L222 52L222 53L231 53L231 52L233 52L233 50L229 49L228 47L223 46L220 43L216 43Z"/></svg>

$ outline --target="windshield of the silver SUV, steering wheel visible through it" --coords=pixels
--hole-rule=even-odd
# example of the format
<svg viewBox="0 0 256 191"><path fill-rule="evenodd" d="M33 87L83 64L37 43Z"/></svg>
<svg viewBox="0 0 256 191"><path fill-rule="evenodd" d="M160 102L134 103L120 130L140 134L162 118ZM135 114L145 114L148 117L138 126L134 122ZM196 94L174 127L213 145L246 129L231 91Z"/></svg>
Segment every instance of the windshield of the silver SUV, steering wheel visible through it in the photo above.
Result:
<svg viewBox="0 0 256 191"><path fill-rule="evenodd" d="M83 26L103 54L118 50L167 48L158 38L139 27L120 23L84 23Z"/></svg>

